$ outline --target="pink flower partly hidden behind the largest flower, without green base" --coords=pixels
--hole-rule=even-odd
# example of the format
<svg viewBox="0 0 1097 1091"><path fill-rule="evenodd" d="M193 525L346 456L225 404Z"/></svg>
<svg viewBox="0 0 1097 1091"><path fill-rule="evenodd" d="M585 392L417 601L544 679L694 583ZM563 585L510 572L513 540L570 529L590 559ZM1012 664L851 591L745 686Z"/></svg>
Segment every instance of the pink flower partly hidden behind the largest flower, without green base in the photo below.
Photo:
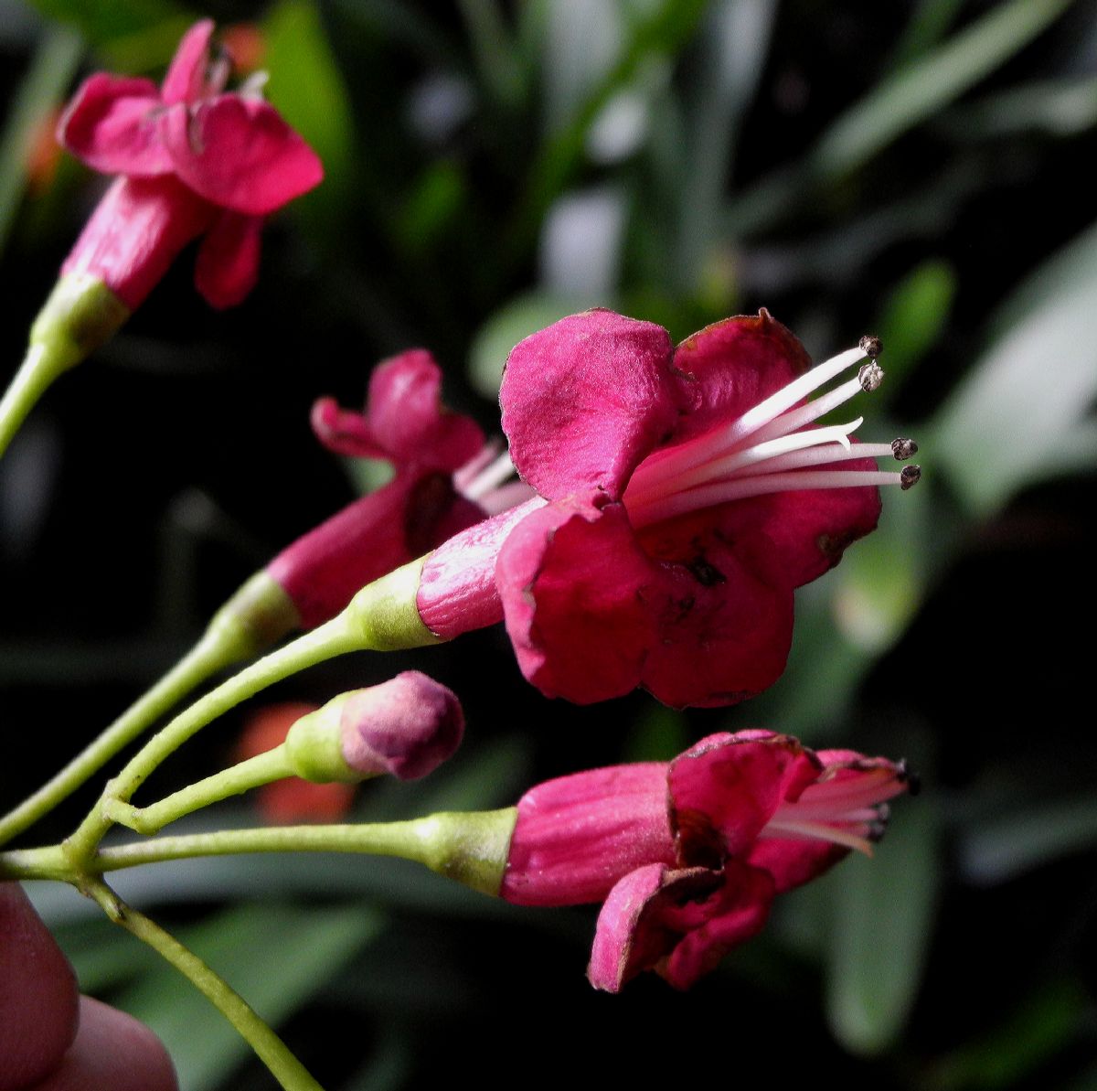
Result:
<svg viewBox="0 0 1097 1091"><path fill-rule="evenodd" d="M313 428L326 447L385 460L395 474L267 565L304 628L335 617L360 587L486 517L482 505L493 495L475 479L495 451L474 420L442 405L441 382L431 355L412 349L374 370L364 413L340 409L331 398L313 407ZM470 465L472 473L457 472Z"/></svg>

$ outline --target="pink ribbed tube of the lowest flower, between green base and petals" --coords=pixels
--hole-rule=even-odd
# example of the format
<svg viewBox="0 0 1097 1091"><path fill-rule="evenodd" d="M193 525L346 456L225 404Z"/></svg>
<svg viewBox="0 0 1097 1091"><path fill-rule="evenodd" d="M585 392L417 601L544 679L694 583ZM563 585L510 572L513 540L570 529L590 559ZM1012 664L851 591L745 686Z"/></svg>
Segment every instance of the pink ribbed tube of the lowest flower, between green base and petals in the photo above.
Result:
<svg viewBox="0 0 1097 1091"><path fill-rule="evenodd" d="M645 863L674 863L667 766L642 762L547 780L518 803L501 898L575 906Z"/></svg>

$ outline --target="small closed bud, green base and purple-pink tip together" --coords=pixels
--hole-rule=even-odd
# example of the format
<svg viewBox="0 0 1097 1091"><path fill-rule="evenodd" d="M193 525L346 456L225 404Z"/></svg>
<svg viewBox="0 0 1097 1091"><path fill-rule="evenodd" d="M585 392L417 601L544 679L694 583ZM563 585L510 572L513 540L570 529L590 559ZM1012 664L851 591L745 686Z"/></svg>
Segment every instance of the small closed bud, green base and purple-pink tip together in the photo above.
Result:
<svg viewBox="0 0 1097 1091"><path fill-rule="evenodd" d="M364 780L391 773L426 776L461 743L456 695L418 671L355 689L302 717L285 739L293 772L306 780Z"/></svg>

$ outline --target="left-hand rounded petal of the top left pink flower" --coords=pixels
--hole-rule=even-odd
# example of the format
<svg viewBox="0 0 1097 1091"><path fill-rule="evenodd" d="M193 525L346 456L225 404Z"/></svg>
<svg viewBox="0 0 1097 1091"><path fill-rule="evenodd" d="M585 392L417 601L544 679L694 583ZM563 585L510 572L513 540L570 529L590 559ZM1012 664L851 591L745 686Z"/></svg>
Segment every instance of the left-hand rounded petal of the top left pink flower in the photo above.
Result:
<svg viewBox="0 0 1097 1091"><path fill-rule="evenodd" d="M80 85L57 126L57 139L104 175L163 175L173 166L160 144L159 111L150 80L97 72Z"/></svg>

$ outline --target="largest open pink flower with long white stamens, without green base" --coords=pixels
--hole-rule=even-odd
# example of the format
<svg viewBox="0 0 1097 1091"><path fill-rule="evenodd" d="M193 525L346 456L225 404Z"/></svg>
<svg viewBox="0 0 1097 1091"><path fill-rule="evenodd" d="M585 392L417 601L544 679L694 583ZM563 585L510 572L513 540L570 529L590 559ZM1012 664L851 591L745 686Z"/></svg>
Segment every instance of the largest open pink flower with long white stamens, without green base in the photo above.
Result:
<svg viewBox="0 0 1097 1091"><path fill-rule="evenodd" d="M609 311L518 345L500 402L510 455L538 498L440 547L417 605L449 638L506 620L519 665L581 704L643 686L668 705L727 705L784 668L793 591L837 564L880 514L881 484L918 469L857 445L861 423L808 428L879 385L879 342L807 371L766 311L678 348ZM866 357L858 376L812 391ZM806 372L806 373L805 373Z"/></svg>

